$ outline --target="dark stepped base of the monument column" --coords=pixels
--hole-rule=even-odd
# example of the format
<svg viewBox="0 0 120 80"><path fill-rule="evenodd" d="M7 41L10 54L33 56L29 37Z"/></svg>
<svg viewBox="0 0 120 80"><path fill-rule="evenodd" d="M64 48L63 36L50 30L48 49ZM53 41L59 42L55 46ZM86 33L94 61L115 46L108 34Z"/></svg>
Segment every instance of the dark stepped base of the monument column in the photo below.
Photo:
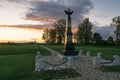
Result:
<svg viewBox="0 0 120 80"><path fill-rule="evenodd" d="M75 51L74 44L73 43L67 43L64 50L65 56L76 56L78 55L78 52Z"/></svg>

